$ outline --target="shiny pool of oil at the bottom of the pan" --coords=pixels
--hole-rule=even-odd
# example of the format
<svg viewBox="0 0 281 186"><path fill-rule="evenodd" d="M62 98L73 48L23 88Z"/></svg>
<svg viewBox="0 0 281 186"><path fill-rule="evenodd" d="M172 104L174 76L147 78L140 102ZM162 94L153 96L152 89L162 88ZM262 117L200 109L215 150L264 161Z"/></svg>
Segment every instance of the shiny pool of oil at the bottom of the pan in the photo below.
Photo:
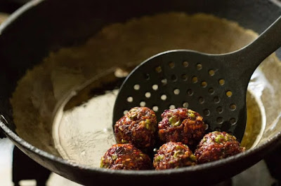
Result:
<svg viewBox="0 0 281 186"><path fill-rule="evenodd" d="M117 78L114 73L112 71L96 78L89 87L74 94L72 92L60 104L53 122L53 138L63 158L98 167L100 157L116 143L112 110L118 87L124 78ZM256 145L264 128L263 108L251 93L253 88L252 80L247 94L247 129L242 141L248 149Z"/></svg>

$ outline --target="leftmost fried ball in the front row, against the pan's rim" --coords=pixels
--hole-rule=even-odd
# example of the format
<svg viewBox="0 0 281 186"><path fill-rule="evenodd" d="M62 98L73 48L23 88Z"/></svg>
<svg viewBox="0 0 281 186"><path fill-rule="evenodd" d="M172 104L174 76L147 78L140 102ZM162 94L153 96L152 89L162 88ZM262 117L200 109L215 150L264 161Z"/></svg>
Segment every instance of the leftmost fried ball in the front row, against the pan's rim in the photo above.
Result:
<svg viewBox="0 0 281 186"><path fill-rule="evenodd" d="M116 144L105 152L100 167L106 169L148 170L152 168L150 157L131 144Z"/></svg>

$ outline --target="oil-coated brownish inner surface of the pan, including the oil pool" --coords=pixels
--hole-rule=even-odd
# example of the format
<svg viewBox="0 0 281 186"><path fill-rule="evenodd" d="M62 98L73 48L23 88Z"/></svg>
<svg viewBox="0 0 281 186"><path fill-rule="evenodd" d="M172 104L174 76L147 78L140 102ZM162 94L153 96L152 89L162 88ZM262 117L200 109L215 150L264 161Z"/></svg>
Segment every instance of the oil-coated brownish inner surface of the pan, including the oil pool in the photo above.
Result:
<svg viewBox="0 0 281 186"><path fill-rule="evenodd" d="M18 81L11 98L16 131L41 150L97 167L115 143L112 108L122 78L134 66L165 50L232 52L256 36L235 22L202 13L163 13L111 24L84 45L51 52ZM251 78L242 140L247 149L265 143L281 127L280 85L275 80L280 70L273 54ZM77 102L65 102L81 94L73 90L87 80L93 80L92 89Z"/></svg>

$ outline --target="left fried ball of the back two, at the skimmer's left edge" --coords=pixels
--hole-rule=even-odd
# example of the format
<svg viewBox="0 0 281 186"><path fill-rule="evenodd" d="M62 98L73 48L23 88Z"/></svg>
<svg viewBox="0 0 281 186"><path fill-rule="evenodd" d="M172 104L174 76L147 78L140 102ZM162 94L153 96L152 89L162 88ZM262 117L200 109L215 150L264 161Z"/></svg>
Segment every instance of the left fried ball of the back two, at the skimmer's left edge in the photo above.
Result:
<svg viewBox="0 0 281 186"><path fill-rule="evenodd" d="M117 143L132 143L137 148L152 148L157 135L157 117L147 107L134 107L115 124Z"/></svg>

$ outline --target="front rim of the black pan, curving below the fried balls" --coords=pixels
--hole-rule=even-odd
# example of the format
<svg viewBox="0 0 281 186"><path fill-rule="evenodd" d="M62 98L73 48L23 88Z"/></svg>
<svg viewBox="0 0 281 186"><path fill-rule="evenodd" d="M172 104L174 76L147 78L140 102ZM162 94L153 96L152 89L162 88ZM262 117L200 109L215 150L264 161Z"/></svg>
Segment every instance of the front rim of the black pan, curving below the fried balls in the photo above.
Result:
<svg viewBox="0 0 281 186"><path fill-rule="evenodd" d="M10 128L8 128L6 126L6 124L4 124L4 122L0 121L0 127L1 127L1 129L4 130L5 134L8 135L8 138L10 138L12 141L15 141L23 148L30 150L34 154L39 155L41 157L51 159L60 164L65 164L66 166L79 167L79 169L84 169L84 170L88 170L88 171L93 171L93 172L98 172L98 173L109 173L110 175L122 174L122 175L128 175L128 176L159 176L159 175L166 175L166 174L171 175L171 174L178 174L178 173L191 173L191 172L195 172L195 171L206 171L208 169L213 169L216 166L219 167L219 166L223 166L224 164L228 164L230 162L233 162L233 163L238 162L242 159L255 155L256 153L259 153L262 150L265 150L266 148L270 147L273 143L277 142L279 138L281 138L281 131L280 131L277 134L275 134L275 136L268 138L268 140L265 143L258 145L255 148L246 150L245 152L234 155L232 157L228 157L226 159L220 159L218 161L209 162L206 164L198 164L196 166L187 166L187 167L182 167L180 169L166 169L166 170L162 170L162 171L155 171L155 170L131 171L131 170L102 169L102 168L96 168L96 167L91 167L91 166L86 166L83 164L77 164L74 162L70 162L66 159L52 155L49 152L46 152L44 150L41 150L41 149L31 145L27 141L20 138L20 136L15 134Z"/></svg>

